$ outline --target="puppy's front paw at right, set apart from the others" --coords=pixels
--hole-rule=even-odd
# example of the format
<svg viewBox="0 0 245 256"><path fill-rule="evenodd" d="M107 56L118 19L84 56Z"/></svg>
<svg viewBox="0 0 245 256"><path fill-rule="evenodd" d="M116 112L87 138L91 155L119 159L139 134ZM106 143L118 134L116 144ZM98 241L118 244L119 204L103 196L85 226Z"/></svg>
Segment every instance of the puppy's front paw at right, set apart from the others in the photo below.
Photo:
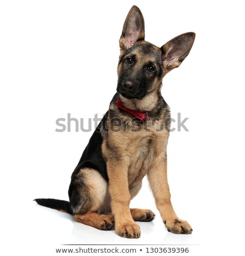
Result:
<svg viewBox="0 0 245 256"><path fill-rule="evenodd" d="M191 234L192 227L187 221L179 220L175 218L174 220L166 220L163 221L166 225L166 228L169 232L174 234Z"/></svg>

